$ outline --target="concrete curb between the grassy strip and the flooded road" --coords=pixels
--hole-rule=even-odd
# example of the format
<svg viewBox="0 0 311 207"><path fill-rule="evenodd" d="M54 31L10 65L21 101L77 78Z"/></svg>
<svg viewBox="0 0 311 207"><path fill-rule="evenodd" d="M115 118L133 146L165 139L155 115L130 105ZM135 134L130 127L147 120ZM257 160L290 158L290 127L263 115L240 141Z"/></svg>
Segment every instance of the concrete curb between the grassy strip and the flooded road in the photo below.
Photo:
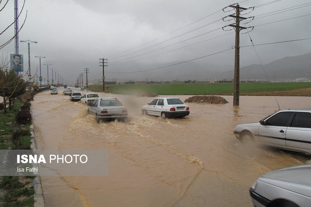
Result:
<svg viewBox="0 0 311 207"><path fill-rule="evenodd" d="M32 108L30 106L30 113L31 113L31 117L32 116ZM34 123L33 120L31 119L31 125L30 125L30 140L31 140L31 149L32 150L36 150L36 145L35 145L35 133L34 133ZM34 179L34 181L32 182L34 185L34 190L35 190L35 195L34 195L34 199L35 199L35 203L34 203L34 207L44 207L45 206L45 201L44 201L44 197L43 197L43 190L42 190L42 184L41 184L41 178L39 175L37 175Z"/></svg>

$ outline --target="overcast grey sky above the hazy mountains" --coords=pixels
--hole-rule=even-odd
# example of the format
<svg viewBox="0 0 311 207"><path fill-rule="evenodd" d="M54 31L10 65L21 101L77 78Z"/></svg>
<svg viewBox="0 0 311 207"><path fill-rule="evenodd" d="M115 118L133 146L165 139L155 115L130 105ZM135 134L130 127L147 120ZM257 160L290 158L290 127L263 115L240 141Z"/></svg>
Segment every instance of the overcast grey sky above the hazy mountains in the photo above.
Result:
<svg viewBox="0 0 311 207"><path fill-rule="evenodd" d="M1 2L1 7L4 2ZM18 2L21 11L23 1ZM269 2L271 3L263 5ZM38 42L30 44L31 69L34 71L38 67L39 70L39 58L34 56L45 56L46 58L41 59L43 77L47 76L47 66L43 64L50 63L52 65L49 67L56 68L68 81L77 79L84 68L90 68L89 79L100 78L102 69L99 67L99 58L107 58L109 66L105 68L107 72L105 75L109 80L115 77L115 74L109 72L136 71L138 69L134 67L135 65L143 65L143 69L148 70L154 66L149 64L169 65L230 49L234 46L235 35L229 33L234 30L223 31L220 28L234 23L234 20L224 22L221 18L235 11L220 10L234 3L237 2L231 0L31 0L25 2L19 18L19 27L21 27L27 10L26 23L19 33L19 40L30 39ZM246 24L246 27L255 26L249 33L254 44L311 37L311 15L294 18L311 14L309 0L241 0L240 2L240 7L253 6L255 6L254 10L243 16L255 16L252 22ZM226 8L225 11L231 9ZM293 10L288 11L290 9ZM271 15L278 10L286 12ZM294 19L285 20L289 18ZM9 0L0 12L1 31L13 21L14 1ZM275 21L280 22L262 25ZM241 26L245 25L241 23ZM200 27L202 28L198 29ZM226 27L225 30L227 29L232 27ZM244 32L245 29L241 31ZM1 43L12 36L14 36L14 25L0 36ZM241 34L240 46L250 44L248 34ZM262 63L267 64L286 56L310 53L310 46L311 40L303 40L256 46L256 50ZM4 56L14 53L14 41L1 52ZM19 54L24 55L24 70L27 70L27 43L19 43ZM233 70L234 49L194 62L199 65L220 65L215 67L218 68L217 70L220 70L219 68ZM259 64L254 48L241 48L240 66L251 64ZM169 71L169 68L166 70ZM159 70L158 73L162 71ZM126 79L127 74L119 74L118 77Z"/></svg>

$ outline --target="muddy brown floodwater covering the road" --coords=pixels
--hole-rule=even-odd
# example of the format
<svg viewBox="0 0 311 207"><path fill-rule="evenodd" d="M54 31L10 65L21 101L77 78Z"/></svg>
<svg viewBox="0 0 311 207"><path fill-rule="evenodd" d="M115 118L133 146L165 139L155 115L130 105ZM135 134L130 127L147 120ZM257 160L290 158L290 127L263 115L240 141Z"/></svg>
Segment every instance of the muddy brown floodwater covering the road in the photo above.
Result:
<svg viewBox="0 0 311 207"><path fill-rule="evenodd" d="M232 96L223 96L224 105L189 103L188 117L164 120L142 115L153 98L98 94L117 97L129 122L97 124L86 105L49 91L32 101L38 149L109 150L109 176L41 177L47 206L252 206L248 190L259 176L311 159L235 138L235 125L278 109L275 97L241 96L240 106ZM311 97L276 98L281 109L311 106Z"/></svg>

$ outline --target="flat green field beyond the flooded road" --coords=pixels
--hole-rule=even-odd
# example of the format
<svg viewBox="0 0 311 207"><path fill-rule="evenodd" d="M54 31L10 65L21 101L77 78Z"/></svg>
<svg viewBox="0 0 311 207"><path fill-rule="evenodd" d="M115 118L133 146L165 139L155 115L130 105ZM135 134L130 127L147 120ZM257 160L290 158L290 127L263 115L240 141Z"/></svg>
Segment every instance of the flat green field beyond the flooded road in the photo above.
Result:
<svg viewBox="0 0 311 207"><path fill-rule="evenodd" d="M106 92L134 95L138 92L158 95L212 95L232 94L233 83L182 83L182 84L120 84L105 85ZM283 91L299 88L311 88L311 83L240 83L240 93ZM91 85L89 90L102 92L103 85Z"/></svg>

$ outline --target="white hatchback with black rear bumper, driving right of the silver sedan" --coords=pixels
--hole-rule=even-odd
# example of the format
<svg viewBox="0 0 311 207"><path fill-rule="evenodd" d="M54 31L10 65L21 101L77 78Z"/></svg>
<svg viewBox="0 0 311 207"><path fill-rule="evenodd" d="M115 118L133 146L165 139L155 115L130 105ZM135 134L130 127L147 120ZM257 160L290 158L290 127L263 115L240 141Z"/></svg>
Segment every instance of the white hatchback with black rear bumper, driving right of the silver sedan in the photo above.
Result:
<svg viewBox="0 0 311 207"><path fill-rule="evenodd" d="M144 115L167 117L183 117L190 114L189 106L179 98L155 98L147 105L142 106Z"/></svg>

